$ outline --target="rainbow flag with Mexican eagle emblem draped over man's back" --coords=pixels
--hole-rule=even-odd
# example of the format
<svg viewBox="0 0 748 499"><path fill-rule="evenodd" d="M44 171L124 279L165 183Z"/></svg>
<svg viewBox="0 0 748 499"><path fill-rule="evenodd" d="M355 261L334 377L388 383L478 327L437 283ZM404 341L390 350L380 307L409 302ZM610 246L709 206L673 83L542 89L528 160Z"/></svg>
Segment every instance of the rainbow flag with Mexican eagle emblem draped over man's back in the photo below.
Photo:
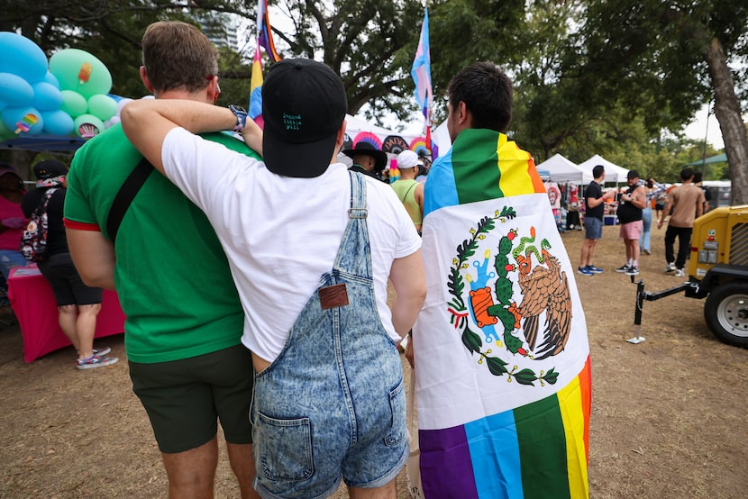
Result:
<svg viewBox="0 0 748 499"><path fill-rule="evenodd" d="M530 154L462 131L426 179L423 237L424 496L588 497L587 325Z"/></svg>

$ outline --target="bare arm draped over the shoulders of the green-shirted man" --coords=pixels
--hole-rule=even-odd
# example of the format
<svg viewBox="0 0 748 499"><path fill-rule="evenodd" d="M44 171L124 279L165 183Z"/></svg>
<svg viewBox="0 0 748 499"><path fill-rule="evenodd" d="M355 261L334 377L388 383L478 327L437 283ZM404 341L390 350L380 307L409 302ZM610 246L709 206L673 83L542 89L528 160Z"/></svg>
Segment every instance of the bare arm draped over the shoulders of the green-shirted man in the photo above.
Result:
<svg viewBox="0 0 748 499"><path fill-rule="evenodd" d="M181 126L188 132L219 132L232 130L236 116L226 107L178 99L144 99L125 105L121 113L122 127L132 145L141 151L153 167L164 173L161 148L172 129ZM257 123L247 120L243 132L247 144L260 151L262 132Z"/></svg>

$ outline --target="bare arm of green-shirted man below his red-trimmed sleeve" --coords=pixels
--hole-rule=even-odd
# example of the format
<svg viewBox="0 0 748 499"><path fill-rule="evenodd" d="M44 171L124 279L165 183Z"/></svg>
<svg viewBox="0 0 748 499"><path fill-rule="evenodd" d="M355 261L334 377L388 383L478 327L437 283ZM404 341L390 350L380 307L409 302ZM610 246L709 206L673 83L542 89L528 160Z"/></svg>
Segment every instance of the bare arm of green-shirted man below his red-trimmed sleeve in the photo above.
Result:
<svg viewBox="0 0 748 499"><path fill-rule="evenodd" d="M86 286L114 290L114 245L99 231L66 229L68 247Z"/></svg>

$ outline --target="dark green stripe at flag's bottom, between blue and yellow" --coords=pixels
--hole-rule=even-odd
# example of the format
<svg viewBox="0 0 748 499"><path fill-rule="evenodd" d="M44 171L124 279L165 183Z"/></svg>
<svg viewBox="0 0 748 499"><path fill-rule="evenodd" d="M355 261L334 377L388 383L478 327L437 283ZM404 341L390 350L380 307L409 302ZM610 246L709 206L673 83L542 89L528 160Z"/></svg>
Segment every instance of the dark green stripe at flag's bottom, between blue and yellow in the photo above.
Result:
<svg viewBox="0 0 748 499"><path fill-rule="evenodd" d="M569 498L566 439L558 398L551 395L514 412L525 499Z"/></svg>

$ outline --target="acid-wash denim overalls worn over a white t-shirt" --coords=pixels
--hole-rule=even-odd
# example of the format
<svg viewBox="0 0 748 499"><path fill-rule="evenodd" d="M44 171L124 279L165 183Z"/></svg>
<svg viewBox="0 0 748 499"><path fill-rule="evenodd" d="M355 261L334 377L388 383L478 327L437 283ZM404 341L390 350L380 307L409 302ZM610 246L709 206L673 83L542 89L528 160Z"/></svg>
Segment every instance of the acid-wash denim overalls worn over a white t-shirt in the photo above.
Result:
<svg viewBox="0 0 748 499"><path fill-rule="evenodd" d="M386 485L408 456L402 364L374 296L366 185L349 175L349 222L333 270L255 377L255 488L264 498L326 497L341 475L351 486ZM329 307L334 285L344 285L348 304Z"/></svg>

